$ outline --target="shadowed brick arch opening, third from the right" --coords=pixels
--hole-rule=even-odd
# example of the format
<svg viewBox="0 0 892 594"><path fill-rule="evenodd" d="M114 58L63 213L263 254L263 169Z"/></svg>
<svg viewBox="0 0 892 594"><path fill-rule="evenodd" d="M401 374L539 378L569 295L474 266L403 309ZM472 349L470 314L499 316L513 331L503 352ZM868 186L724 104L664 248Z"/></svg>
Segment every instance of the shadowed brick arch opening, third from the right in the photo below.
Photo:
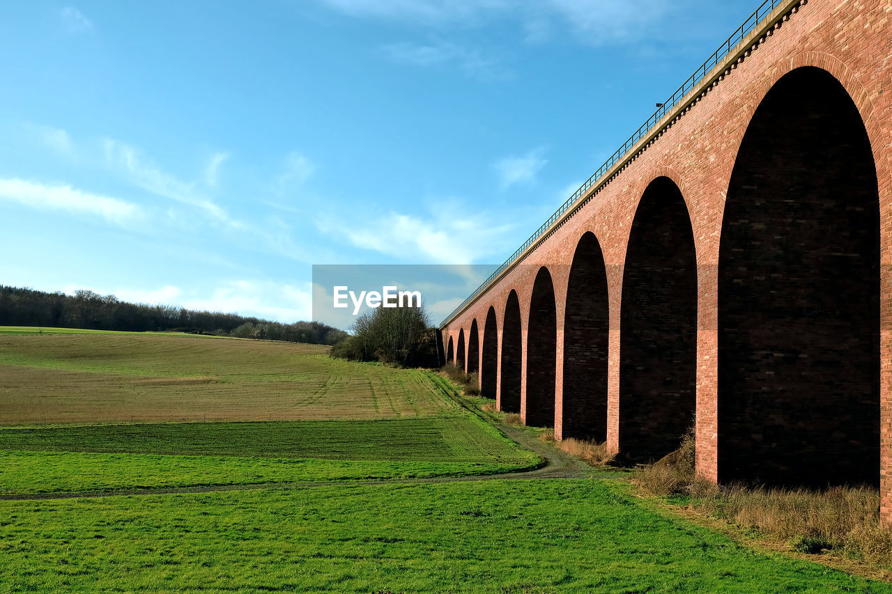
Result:
<svg viewBox="0 0 892 594"><path fill-rule="evenodd" d="M564 309L561 438L607 441L610 303L598 238L586 232L570 264Z"/></svg>

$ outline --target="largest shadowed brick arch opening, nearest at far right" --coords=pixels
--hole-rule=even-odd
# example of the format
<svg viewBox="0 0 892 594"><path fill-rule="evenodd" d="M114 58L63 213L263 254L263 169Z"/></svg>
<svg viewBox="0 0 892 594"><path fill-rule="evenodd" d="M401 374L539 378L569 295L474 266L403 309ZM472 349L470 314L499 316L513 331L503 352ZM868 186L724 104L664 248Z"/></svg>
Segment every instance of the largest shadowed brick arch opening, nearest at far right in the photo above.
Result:
<svg viewBox="0 0 892 594"><path fill-rule="evenodd" d="M723 205L718 475L879 483L883 197L863 120L872 107L826 54L789 64L748 121Z"/></svg>

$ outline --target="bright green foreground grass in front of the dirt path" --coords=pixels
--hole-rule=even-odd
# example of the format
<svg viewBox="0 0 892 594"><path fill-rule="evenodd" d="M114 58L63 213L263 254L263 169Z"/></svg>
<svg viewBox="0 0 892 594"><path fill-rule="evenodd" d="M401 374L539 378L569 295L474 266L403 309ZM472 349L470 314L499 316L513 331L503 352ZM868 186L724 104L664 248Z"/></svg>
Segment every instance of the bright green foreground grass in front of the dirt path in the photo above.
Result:
<svg viewBox="0 0 892 594"><path fill-rule="evenodd" d="M0 502L4 591L888 592L606 481Z"/></svg>

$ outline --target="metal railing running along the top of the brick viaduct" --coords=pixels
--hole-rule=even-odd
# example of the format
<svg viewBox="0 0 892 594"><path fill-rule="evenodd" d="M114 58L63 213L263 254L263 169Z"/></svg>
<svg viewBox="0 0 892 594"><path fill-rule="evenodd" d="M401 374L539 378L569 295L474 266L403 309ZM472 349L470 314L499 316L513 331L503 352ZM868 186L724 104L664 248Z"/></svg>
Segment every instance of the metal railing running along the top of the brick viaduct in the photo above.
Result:
<svg viewBox="0 0 892 594"><path fill-rule="evenodd" d="M483 284L478 286L474 293L471 293L467 296L465 301L461 302L461 305L458 306L449 316L443 319L440 326L443 326L450 319L454 318L456 314L462 309L465 309L468 303L474 301L477 295L483 293L483 289L485 289L494 279L496 279L502 272L505 271L506 268L511 266L517 258L524 253L524 251L536 243L537 240L541 238L542 235L554 224L555 221L560 219L561 215L563 215L567 210L570 209L571 206L574 205L576 201L578 201L584 194L589 191L591 186L597 184L602 177L609 171L617 161L620 161L626 153L628 153L635 144L638 144L641 138L647 136L648 133L657 125L660 120L663 120L665 115L677 105L681 99L684 98L685 95L688 95L690 91L697 87L698 83L706 77L706 74L709 73L710 70L713 70L719 62L721 62L724 57L728 54L731 54L731 50L736 47L753 29L756 29L765 18L768 17L771 12L777 8L780 4L783 4L785 0L765 0L756 11L749 15L746 21L743 21L743 24L739 26L739 28L731 34L731 37L722 44L719 45L718 49L714 51L714 53L706 59L706 62L700 65L697 70L694 70L694 73L690 75L690 77L681 84L681 87L675 90L675 92L669 96L668 99L665 100L658 108L657 111L654 111L654 114L651 115L647 121L641 124L640 128L635 130L635 133L632 136L629 136L629 139L626 140L622 146L616 149L616 152L610 155L610 158L605 161L603 165L601 165L597 171L591 174L585 183L582 186L579 186L579 189L576 190L572 196L566 199L566 202L560 205L558 210L555 210L555 213L549 217L544 223L542 223L541 227L536 229L533 235L530 235L529 239L527 239L524 243L520 245L519 248L512 253L508 260L505 260L499 268L496 268L495 271L485 280Z"/></svg>

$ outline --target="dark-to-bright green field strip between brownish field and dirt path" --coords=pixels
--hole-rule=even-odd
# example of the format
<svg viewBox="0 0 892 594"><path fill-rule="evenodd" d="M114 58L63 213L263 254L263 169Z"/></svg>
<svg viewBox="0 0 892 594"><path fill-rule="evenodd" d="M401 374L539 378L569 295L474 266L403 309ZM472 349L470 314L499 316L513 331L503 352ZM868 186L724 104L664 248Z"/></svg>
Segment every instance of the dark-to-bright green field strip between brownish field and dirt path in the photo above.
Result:
<svg viewBox="0 0 892 594"><path fill-rule="evenodd" d="M471 415L0 430L0 493L495 474L536 466Z"/></svg>

